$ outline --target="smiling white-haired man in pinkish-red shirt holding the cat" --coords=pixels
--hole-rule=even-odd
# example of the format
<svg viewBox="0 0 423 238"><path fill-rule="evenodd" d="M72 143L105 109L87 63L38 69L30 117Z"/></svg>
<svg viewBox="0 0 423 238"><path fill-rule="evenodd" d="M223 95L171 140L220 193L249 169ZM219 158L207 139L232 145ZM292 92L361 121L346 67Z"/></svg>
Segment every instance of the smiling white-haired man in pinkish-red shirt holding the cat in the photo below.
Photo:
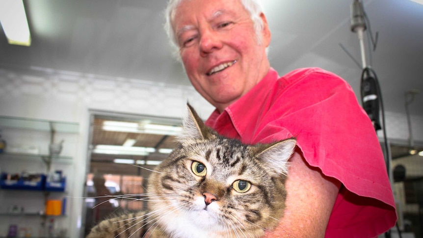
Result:
<svg viewBox="0 0 423 238"><path fill-rule="evenodd" d="M317 68L279 77L256 0L170 0L166 14L189 80L216 107L207 125L244 143L297 138L286 212L266 237L376 237L395 225L377 136L343 79Z"/></svg>

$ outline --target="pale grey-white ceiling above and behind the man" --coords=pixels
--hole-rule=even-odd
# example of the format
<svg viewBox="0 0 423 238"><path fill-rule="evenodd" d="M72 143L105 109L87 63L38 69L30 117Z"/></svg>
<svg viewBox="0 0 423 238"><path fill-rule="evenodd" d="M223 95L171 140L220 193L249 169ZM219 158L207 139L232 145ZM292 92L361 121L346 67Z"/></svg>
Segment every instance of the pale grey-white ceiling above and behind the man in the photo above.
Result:
<svg viewBox="0 0 423 238"><path fill-rule="evenodd" d="M0 68L189 85L162 27L166 1L24 0L32 45L7 44L1 29ZM361 69L341 47L361 62L357 34L349 24L352 1L261 0L272 30L272 67L280 75L298 67L322 67L346 79L359 94ZM405 92L423 94L423 5L410 0L363 4L373 34L379 32L370 65L379 78L385 110L405 113ZM410 105L414 116L423 116L422 94Z"/></svg>

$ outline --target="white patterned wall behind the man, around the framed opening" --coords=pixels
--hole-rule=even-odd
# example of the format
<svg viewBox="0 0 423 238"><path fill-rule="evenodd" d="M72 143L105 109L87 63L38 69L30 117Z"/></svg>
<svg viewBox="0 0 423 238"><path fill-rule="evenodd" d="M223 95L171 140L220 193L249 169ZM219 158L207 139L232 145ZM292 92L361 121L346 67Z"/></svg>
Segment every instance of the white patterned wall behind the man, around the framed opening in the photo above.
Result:
<svg viewBox="0 0 423 238"><path fill-rule="evenodd" d="M56 70L0 69L0 115L79 123L76 149L68 152L74 157L67 171L71 177L68 195L73 197L83 195L89 109L181 118L187 101L203 118L213 110L187 86ZM387 127L389 138L408 138L405 116L387 113ZM423 119L413 118L413 128L415 139L423 141ZM82 205L82 199L68 199L67 224L72 238L79 236Z"/></svg>

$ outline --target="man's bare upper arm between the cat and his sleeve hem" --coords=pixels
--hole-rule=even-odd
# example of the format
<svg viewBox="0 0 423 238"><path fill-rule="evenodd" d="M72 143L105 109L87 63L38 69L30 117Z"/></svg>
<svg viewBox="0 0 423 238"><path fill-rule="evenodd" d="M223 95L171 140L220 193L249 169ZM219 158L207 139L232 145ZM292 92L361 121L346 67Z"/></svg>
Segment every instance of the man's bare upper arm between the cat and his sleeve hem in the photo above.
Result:
<svg viewBox="0 0 423 238"><path fill-rule="evenodd" d="M341 182L310 166L298 148L289 161L286 212L265 238L324 237Z"/></svg>

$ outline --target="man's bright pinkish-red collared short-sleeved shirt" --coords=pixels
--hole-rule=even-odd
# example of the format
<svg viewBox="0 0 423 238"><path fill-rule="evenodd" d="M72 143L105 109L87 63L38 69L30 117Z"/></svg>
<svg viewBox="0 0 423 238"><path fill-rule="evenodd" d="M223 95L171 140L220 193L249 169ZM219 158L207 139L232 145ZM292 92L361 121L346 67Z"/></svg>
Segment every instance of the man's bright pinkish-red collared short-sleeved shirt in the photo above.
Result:
<svg viewBox="0 0 423 238"><path fill-rule="evenodd" d="M270 69L253 89L206 125L247 144L295 136L311 166L343 185L325 237L376 237L397 220L382 150L346 81L318 68L279 78Z"/></svg>

